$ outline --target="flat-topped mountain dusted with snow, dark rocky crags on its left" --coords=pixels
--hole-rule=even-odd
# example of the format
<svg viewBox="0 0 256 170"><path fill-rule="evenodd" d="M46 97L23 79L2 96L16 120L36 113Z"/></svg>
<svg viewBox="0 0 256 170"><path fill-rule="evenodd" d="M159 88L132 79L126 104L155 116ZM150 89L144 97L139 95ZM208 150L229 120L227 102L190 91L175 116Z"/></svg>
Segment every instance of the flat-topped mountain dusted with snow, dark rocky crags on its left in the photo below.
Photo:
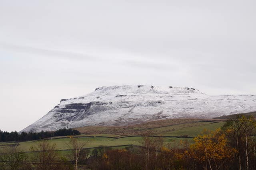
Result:
<svg viewBox="0 0 256 170"><path fill-rule="evenodd" d="M60 100L22 131L54 131L91 125L128 125L174 118L214 118L256 111L256 95L207 95L194 88L108 86Z"/></svg>

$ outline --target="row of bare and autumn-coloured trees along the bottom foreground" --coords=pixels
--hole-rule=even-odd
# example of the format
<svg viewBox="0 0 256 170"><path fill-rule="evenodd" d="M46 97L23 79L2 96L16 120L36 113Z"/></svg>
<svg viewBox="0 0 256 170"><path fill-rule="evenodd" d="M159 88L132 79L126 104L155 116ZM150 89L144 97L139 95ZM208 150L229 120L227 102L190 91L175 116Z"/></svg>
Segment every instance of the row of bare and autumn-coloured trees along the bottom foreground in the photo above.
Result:
<svg viewBox="0 0 256 170"><path fill-rule="evenodd" d="M145 135L141 147L85 149L87 142L70 137L70 152L42 140L24 153L18 147L0 153L0 169L26 170L255 170L256 120L244 115L226 121L216 131L204 130L193 142L164 144ZM28 156L29 154L29 156ZM30 162L26 162L30 158ZM68 159L67 159L68 158ZM4 167L4 168L3 168Z"/></svg>

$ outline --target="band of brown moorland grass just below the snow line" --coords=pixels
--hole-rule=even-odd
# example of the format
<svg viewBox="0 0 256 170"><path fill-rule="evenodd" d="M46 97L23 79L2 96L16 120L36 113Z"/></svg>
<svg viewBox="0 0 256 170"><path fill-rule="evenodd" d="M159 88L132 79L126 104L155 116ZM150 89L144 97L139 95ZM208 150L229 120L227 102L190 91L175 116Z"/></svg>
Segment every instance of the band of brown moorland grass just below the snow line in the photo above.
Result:
<svg viewBox="0 0 256 170"><path fill-rule="evenodd" d="M112 134L118 136L131 135L164 135L182 128L200 127L208 124L222 124L219 119L166 119L150 121L138 125L128 126L88 126L76 128L84 135ZM217 125L218 127L218 125ZM172 134L172 133L170 133ZM189 134L187 134L189 135Z"/></svg>

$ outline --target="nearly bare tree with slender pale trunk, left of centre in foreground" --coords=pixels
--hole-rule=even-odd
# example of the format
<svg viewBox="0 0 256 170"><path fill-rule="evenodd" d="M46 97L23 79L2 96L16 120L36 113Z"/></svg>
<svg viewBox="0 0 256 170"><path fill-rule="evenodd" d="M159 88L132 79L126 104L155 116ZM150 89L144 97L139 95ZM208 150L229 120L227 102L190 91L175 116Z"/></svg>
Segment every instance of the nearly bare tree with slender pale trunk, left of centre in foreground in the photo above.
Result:
<svg viewBox="0 0 256 170"><path fill-rule="evenodd" d="M70 137L70 143L68 146L72 150L69 157L75 164L75 170L77 170L78 162L84 161L89 155L88 150L84 149L87 143L88 141L79 141L78 138Z"/></svg>

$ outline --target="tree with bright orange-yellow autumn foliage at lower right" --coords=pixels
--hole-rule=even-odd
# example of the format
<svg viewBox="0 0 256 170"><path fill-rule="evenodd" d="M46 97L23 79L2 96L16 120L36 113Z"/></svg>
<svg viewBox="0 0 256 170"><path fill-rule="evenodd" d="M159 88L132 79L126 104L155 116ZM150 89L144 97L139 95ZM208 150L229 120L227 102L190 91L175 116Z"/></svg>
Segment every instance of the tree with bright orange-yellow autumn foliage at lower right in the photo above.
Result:
<svg viewBox="0 0 256 170"><path fill-rule="evenodd" d="M194 144L190 146L189 154L198 163L205 163L207 170L218 170L224 163L234 157L236 149L228 146L225 134L216 131L204 131L202 135L194 138Z"/></svg>

